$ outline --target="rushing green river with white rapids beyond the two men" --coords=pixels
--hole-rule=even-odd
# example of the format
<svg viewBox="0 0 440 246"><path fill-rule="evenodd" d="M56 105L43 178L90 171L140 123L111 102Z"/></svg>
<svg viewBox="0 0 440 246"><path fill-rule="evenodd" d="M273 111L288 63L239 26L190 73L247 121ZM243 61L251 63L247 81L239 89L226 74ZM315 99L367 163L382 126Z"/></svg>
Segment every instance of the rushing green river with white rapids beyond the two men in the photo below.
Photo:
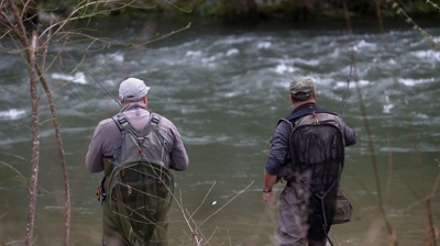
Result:
<svg viewBox="0 0 440 246"><path fill-rule="evenodd" d="M89 29L101 37L139 44L186 25L132 21L90 23ZM128 77L152 88L150 109L176 124L187 148L190 165L174 172L175 194L193 215L190 223L200 226L204 243L275 245L278 208L267 206L261 192L267 142L277 120L293 110L288 86L296 76L311 77L318 103L342 113L351 64L345 26L195 23L146 48L100 41L65 46L46 78L55 91L67 156L70 245L100 244L101 208L95 188L101 174L88 172L84 159L97 123L119 110L77 63L116 97L119 82ZM346 148L342 185L354 210L350 223L332 227L336 245L386 245L389 233L380 201L399 245L430 238L426 198L431 193L433 224L440 226L440 53L406 23L385 22L385 29L382 36L374 21L353 24L355 66L344 120L358 133L358 144ZM439 27L427 31L440 38ZM52 47L56 52L61 44ZM21 245L28 213L23 178L29 179L32 146L23 58L2 53L0 75L0 245ZM34 245L62 245L63 174L46 98L40 103ZM275 187L275 197L282 189ZM190 245L190 228L177 206L169 219L173 245Z"/></svg>

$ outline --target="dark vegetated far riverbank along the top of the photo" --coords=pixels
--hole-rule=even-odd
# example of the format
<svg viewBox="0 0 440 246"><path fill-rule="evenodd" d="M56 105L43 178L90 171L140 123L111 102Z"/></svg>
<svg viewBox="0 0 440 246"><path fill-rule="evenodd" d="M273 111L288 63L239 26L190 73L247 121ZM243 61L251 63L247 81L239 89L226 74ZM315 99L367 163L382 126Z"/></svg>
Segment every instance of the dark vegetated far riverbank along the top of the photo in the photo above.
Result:
<svg viewBox="0 0 440 246"><path fill-rule="evenodd" d="M218 20L227 23L252 24L267 20L307 21L344 19L343 2L346 2L351 18L375 18L376 1L359 0L139 0L103 2L85 9L84 13L109 11L110 18L144 19L162 16L168 20L197 18ZM77 5L76 0L43 1L46 12L66 15ZM431 1L397 1L402 11L414 18L439 18L439 7ZM430 3L430 4L428 4ZM384 18L398 18L388 1L380 1ZM122 8L124 7L124 8ZM118 9L118 10L116 10ZM82 14L84 14L82 13Z"/></svg>

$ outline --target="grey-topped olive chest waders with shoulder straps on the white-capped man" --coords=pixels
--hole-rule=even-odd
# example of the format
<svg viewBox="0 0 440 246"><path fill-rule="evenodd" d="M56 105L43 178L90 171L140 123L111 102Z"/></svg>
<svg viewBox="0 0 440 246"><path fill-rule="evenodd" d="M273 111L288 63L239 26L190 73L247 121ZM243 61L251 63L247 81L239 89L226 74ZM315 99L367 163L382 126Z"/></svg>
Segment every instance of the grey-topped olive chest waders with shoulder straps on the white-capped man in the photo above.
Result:
<svg viewBox="0 0 440 246"><path fill-rule="evenodd" d="M114 146L111 175L106 180L107 199L112 220L130 245L151 245L163 232L174 189L169 171L169 149L158 128L161 115L151 113L142 130L118 113L112 119L121 131Z"/></svg>

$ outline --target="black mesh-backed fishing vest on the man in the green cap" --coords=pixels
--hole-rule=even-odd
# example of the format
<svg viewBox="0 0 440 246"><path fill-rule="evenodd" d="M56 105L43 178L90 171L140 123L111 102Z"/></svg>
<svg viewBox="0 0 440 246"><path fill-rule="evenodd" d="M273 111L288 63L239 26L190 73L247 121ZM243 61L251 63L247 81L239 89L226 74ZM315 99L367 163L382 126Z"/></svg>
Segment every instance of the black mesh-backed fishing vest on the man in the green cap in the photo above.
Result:
<svg viewBox="0 0 440 246"><path fill-rule="evenodd" d="M290 124L292 133L289 152L278 177L293 181L298 174L310 186L338 180L345 149L344 126L338 114L306 104L282 121Z"/></svg>

